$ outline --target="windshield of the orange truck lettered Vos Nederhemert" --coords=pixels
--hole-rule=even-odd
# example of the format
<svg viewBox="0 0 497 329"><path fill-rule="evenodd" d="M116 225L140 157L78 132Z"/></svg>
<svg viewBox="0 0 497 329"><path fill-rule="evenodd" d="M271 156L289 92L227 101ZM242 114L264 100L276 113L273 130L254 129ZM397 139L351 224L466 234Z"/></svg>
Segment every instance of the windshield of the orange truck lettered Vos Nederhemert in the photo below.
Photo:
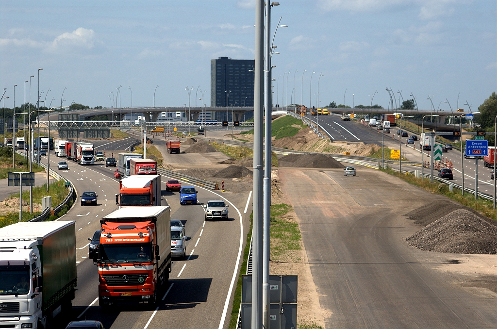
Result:
<svg viewBox="0 0 497 329"><path fill-rule="evenodd" d="M99 249L104 263L139 263L151 259L150 244L102 244Z"/></svg>

